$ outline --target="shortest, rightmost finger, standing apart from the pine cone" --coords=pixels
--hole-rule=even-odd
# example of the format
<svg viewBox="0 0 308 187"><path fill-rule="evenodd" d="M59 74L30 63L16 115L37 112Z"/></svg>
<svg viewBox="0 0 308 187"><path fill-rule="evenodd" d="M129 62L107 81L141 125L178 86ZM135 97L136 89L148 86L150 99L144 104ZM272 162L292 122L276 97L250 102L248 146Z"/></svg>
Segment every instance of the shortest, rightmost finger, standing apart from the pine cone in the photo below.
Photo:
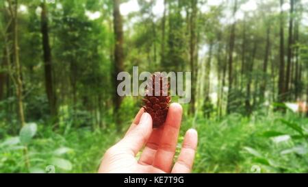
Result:
<svg viewBox="0 0 308 187"><path fill-rule="evenodd" d="M194 155L198 144L198 134L195 129L189 129L185 134L181 153L173 166L172 173L190 173L194 163Z"/></svg>

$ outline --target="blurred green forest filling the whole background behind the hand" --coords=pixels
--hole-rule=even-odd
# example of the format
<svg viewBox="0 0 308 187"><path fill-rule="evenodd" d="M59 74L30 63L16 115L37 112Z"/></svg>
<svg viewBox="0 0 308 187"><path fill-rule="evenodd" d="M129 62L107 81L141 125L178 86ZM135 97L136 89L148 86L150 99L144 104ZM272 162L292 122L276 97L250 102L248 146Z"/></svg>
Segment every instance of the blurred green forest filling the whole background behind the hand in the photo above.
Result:
<svg viewBox="0 0 308 187"><path fill-rule="evenodd" d="M193 173L308 173L307 0L3 0L0 173L97 173L142 97L122 71L191 72ZM177 102L177 97L172 98Z"/></svg>

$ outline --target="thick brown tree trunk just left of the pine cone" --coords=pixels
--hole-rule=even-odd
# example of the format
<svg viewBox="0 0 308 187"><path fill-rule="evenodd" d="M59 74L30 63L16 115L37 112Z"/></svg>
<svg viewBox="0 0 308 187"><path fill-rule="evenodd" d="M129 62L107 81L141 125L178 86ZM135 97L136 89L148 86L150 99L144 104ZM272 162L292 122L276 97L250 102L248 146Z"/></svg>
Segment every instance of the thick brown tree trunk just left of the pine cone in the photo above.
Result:
<svg viewBox="0 0 308 187"><path fill-rule="evenodd" d="M123 98L118 95L116 92L118 88L118 84L120 81L117 80L118 73L124 71L123 63L124 63L124 53L123 53L123 23L122 17L120 14L120 0L114 0L114 74L112 78L114 79L114 117L116 119L118 131L121 130L120 127L120 118L118 116L118 112L120 110L120 105L122 103Z"/></svg>

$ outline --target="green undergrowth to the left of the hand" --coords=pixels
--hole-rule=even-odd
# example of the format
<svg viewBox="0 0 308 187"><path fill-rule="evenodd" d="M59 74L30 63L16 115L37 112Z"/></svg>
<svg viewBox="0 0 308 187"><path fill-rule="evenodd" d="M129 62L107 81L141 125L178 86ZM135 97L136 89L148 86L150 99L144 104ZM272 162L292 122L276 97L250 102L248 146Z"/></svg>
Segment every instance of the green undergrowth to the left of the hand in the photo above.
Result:
<svg viewBox="0 0 308 187"><path fill-rule="evenodd" d="M25 170L21 142L23 136L34 132L25 126L21 136L8 137L0 142L0 173L95 173L105 150L115 141L114 132L78 129L57 134L49 128L40 128L28 144L31 167Z"/></svg>

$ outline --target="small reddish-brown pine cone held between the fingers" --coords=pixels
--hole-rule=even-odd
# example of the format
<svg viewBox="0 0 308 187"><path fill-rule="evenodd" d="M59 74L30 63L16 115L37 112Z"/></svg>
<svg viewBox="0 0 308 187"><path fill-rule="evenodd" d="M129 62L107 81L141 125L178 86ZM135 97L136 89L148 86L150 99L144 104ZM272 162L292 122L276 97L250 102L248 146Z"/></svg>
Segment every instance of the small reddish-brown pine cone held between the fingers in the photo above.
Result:
<svg viewBox="0 0 308 187"><path fill-rule="evenodd" d="M166 79L167 81L166 90L163 89L163 79ZM160 82L160 88L158 92L155 92L155 85L158 86L158 82ZM146 96L143 99L143 108L151 115L153 128L158 128L164 125L166 121L170 103L170 92L168 88L168 77L162 77L161 73L155 73L152 75L152 79L149 81L146 89Z"/></svg>

